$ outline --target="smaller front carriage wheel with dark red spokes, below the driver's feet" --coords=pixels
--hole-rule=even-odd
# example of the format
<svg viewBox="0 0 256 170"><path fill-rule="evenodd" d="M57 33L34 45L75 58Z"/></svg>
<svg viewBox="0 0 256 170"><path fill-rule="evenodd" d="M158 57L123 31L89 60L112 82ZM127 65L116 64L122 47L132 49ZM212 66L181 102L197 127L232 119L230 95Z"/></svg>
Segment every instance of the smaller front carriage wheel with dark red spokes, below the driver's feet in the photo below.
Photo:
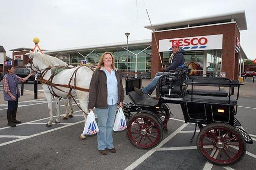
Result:
<svg viewBox="0 0 256 170"><path fill-rule="evenodd" d="M163 129L156 117L139 113L127 121L126 136L137 148L156 147L163 139Z"/></svg>

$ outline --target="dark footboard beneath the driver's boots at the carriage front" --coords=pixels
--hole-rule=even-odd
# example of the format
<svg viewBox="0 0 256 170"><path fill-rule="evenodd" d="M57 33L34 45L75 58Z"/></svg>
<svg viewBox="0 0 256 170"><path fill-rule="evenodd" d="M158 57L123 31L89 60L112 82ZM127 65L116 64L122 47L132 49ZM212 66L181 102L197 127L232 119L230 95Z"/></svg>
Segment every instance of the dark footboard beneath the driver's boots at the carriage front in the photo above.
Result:
<svg viewBox="0 0 256 170"><path fill-rule="evenodd" d="M128 93L129 98L136 106L144 106L144 107L154 107L158 105L158 100L151 98L149 95L144 94L141 96L135 91L131 91Z"/></svg>

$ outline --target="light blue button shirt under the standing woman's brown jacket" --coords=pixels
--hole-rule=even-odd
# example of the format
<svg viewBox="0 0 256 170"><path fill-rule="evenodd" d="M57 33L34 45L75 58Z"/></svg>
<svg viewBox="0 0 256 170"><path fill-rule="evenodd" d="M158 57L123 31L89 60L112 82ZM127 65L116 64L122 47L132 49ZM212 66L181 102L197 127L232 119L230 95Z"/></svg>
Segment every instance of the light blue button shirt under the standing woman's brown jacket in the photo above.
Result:
<svg viewBox="0 0 256 170"><path fill-rule="evenodd" d="M105 69L107 76L108 105L112 106L118 103L118 82L116 80L115 71L111 69L111 74Z"/></svg>

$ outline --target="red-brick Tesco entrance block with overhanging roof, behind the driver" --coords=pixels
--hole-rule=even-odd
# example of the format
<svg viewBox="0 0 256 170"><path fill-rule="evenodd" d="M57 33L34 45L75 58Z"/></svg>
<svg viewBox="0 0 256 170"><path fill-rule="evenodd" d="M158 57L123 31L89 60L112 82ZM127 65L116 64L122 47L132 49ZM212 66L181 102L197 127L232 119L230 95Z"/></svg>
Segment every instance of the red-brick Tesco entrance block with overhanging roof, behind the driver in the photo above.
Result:
<svg viewBox="0 0 256 170"><path fill-rule="evenodd" d="M174 40L186 51L185 63L192 68L193 75L223 72L237 80L239 60L247 59L239 43L240 31L247 30L244 11L144 27L150 30L153 27L156 37L155 40L152 33L152 71L161 67L157 46L163 62L168 63Z"/></svg>

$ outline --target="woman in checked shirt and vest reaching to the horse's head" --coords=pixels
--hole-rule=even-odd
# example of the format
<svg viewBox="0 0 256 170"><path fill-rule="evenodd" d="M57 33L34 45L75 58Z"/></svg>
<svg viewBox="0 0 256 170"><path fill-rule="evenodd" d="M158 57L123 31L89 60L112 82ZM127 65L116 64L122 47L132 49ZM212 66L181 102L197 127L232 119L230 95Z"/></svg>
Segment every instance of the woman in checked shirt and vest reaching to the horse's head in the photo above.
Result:
<svg viewBox="0 0 256 170"><path fill-rule="evenodd" d="M18 99L20 97L20 90L18 86L19 82L26 82L26 80L34 74L34 72L30 72L30 74L21 78L14 74L13 65L5 66L7 73L3 76L3 98L8 101L7 108L7 126L15 127L16 124L21 123L21 121L16 120L17 107L18 107ZM16 123L16 124L14 124Z"/></svg>

